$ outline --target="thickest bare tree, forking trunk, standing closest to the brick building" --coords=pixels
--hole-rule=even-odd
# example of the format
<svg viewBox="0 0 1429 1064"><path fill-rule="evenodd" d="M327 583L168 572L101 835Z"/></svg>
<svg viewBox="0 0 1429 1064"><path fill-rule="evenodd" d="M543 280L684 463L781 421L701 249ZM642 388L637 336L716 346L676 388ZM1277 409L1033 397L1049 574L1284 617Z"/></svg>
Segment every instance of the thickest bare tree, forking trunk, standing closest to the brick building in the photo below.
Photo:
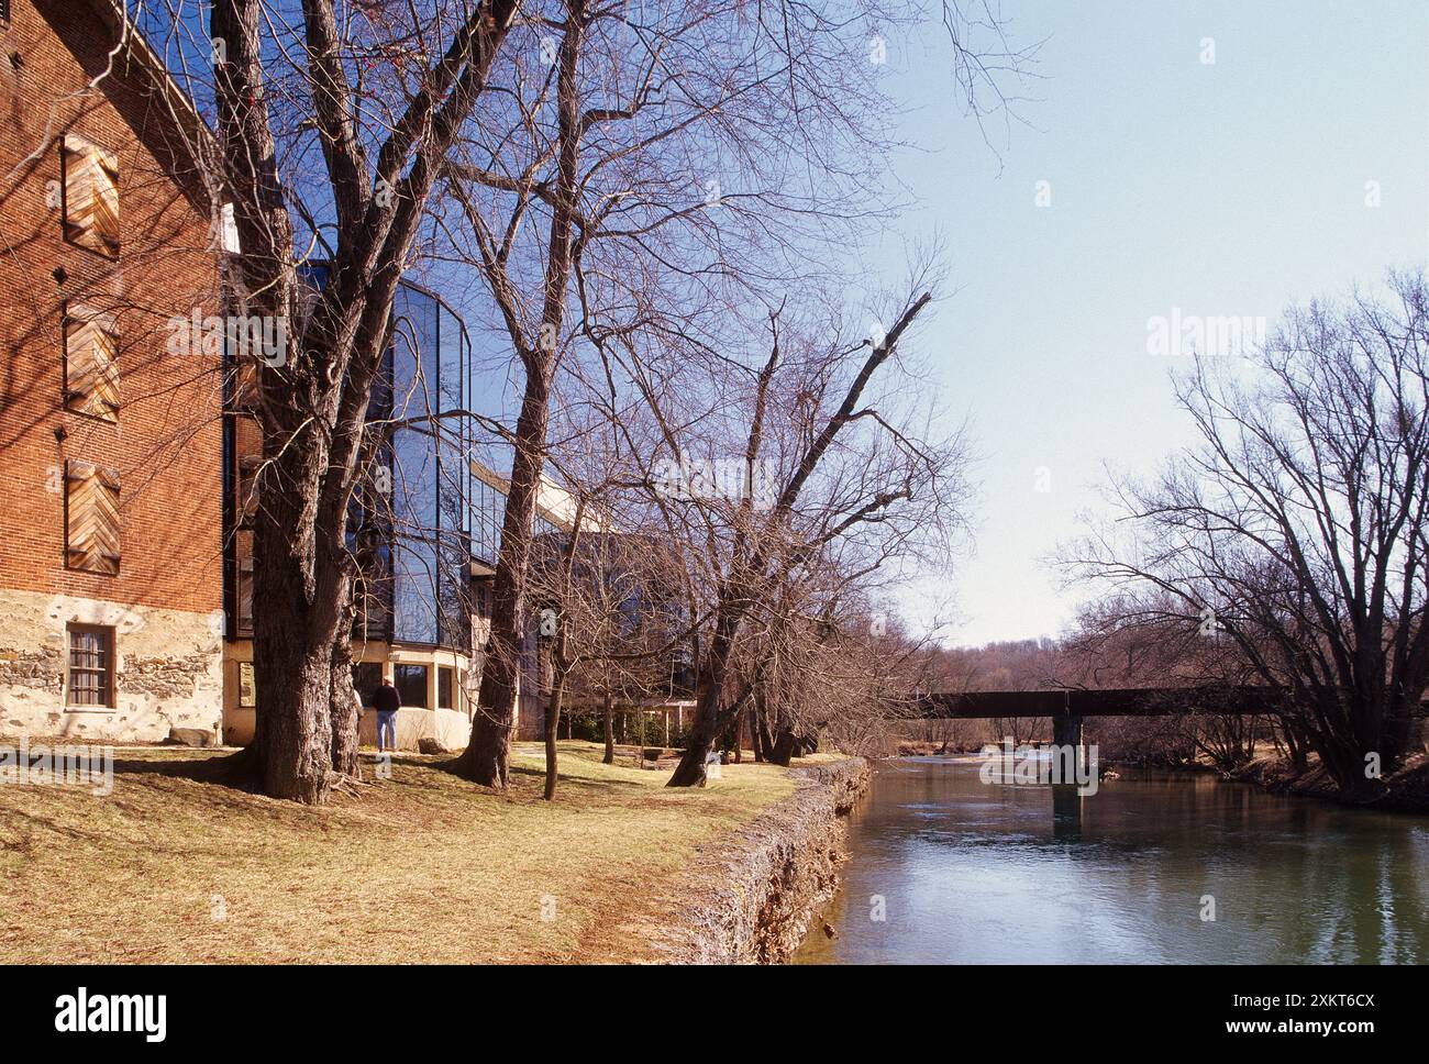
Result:
<svg viewBox="0 0 1429 1064"><path fill-rule="evenodd" d="M203 47L213 81L181 71L214 111L214 196L231 203L242 249L227 277L233 311L293 326L282 360L247 367L263 436L253 623L263 711L243 760L274 797L320 803L356 770L357 566L346 537L377 444L369 401L436 176L517 9L453 0L356 17L304 0L294 17L263 0L214 0ZM191 60L181 47L191 11L177 0L170 24L179 60ZM327 226L336 246L310 294L304 268Z"/></svg>

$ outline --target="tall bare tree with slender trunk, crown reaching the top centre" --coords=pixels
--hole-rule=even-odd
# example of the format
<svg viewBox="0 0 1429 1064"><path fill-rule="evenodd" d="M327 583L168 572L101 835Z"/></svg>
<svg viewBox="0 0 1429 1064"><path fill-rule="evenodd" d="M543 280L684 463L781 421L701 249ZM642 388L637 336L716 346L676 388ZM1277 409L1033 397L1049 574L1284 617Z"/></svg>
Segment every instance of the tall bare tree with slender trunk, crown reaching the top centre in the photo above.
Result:
<svg viewBox="0 0 1429 1064"><path fill-rule="evenodd" d="M562 0L519 29L502 106L446 161L450 254L486 278L523 377L469 778L507 778L553 397L599 398L613 421L632 397L664 403L672 351L723 378L722 353L747 337L765 291L847 271L827 250L893 211L892 103L869 37L915 33L925 14L880 1ZM989 90L1003 100L999 74L1027 56L1006 49L996 19L943 16L982 114ZM993 34L986 53L980 33Z"/></svg>

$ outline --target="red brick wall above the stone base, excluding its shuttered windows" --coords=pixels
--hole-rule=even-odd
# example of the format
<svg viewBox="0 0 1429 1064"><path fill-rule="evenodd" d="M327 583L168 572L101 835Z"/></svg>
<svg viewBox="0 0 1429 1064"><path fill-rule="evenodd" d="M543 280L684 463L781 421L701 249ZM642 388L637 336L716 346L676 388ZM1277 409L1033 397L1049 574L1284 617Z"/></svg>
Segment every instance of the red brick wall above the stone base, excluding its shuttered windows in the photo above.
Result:
<svg viewBox="0 0 1429 1064"><path fill-rule="evenodd" d="M207 206L186 197L196 184L171 161L186 157L186 134L171 104L123 61L84 91L114 41L89 0L14 0L11 9L0 24L0 588L217 610L217 361L167 350L170 317L216 306ZM66 131L119 157L117 260L64 239L54 190ZM117 424L64 408L67 300L116 313ZM117 577L64 566L66 460L120 474Z"/></svg>

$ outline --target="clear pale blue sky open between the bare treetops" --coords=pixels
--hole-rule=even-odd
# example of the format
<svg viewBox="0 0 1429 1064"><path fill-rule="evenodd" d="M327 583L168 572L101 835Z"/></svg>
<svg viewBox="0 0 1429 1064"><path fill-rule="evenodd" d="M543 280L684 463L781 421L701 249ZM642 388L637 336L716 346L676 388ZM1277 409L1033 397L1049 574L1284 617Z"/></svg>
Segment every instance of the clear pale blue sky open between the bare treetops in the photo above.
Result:
<svg viewBox="0 0 1429 1064"><path fill-rule="evenodd" d="M1429 254L1429 3L1002 10L1015 41L1046 43L1019 107L1032 127L1009 140L995 116L996 151L946 106L946 49L890 44L897 133L922 149L897 176L917 206L870 263L902 276L906 241L932 229L950 250L953 294L920 343L982 454L975 554L900 606L919 624L950 597L956 643L1056 634L1083 593L1042 560L1096 510L1105 466L1149 470L1189 441L1169 383L1185 363L1147 354L1147 318L1273 324Z"/></svg>

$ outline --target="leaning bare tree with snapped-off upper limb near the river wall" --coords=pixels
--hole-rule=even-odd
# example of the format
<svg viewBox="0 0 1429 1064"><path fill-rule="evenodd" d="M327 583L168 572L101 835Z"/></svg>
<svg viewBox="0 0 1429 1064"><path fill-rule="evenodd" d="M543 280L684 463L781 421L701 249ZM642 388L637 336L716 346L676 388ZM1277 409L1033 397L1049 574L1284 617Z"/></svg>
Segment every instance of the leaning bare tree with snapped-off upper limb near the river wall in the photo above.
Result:
<svg viewBox="0 0 1429 1064"><path fill-rule="evenodd" d="M907 543L936 524L937 517L946 517L942 507L947 498L940 481L956 451L920 443L876 407L863 406L875 374L890 361L903 333L929 300L927 294L910 298L877 341L852 346L837 338L823 341L787 363L779 316L772 314L769 356L755 374L746 411L749 430L739 453L740 468L767 470L772 481L767 510L757 506L753 490L723 498L700 491L676 493L683 503L679 507L666 496L663 506L672 520L690 521L699 528L714 591L700 658L699 706L670 786L703 783L706 756L755 696L756 687L749 680L743 690L729 690L737 644L747 634L746 623L776 601L775 591L789 573L839 540L866 530L877 530L893 543ZM796 401L780 401L795 396ZM865 426L873 428L863 433ZM663 417L662 431L670 448L664 461L679 461L673 457L683 454L679 436ZM862 451L855 443L860 436L872 451ZM782 444L777 451L776 444ZM777 463L769 457L773 453L780 453ZM826 461L849 476L830 474L823 467ZM855 468L862 468L862 476ZM920 488L932 497L932 510L927 503L913 508L915 497L923 498Z"/></svg>

